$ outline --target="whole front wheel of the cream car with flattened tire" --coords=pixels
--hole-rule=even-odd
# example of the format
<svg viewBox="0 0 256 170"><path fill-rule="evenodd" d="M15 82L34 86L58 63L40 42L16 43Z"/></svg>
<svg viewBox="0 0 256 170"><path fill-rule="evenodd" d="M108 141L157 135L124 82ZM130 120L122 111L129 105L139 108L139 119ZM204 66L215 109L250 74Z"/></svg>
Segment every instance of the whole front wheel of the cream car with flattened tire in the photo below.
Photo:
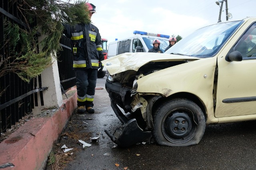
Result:
<svg viewBox="0 0 256 170"><path fill-rule="evenodd" d="M198 144L206 127L200 107L183 98L161 104L154 112L153 123L152 133L156 143L171 147Z"/></svg>

